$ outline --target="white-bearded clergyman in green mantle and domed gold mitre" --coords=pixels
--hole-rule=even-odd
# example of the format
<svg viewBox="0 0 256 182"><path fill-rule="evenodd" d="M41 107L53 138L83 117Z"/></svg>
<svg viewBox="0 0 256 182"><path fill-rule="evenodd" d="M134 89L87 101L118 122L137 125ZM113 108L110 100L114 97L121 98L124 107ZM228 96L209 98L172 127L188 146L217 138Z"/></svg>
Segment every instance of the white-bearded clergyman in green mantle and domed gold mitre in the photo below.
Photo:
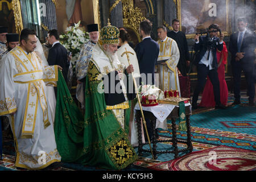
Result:
<svg viewBox="0 0 256 182"><path fill-rule="evenodd" d="M133 65L125 67L118 60L118 38L118 28L110 23L101 29L100 40L88 58L84 121L73 125L72 132L65 135L55 131L63 162L117 170L127 168L137 159L128 139L133 98L125 86L134 68ZM59 127L65 130L65 126ZM78 131L80 139L69 139Z"/></svg>

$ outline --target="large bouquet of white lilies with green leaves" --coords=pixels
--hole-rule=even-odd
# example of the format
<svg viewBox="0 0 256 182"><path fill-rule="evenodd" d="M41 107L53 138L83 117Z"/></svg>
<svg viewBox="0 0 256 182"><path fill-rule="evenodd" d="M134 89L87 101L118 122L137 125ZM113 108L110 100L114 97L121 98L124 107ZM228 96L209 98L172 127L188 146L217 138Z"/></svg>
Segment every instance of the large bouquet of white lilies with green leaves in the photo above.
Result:
<svg viewBox="0 0 256 182"><path fill-rule="evenodd" d="M75 26L67 27L65 34L60 35L61 44L70 52L72 52L71 62L75 64L78 59L82 45L89 40L89 33L80 30L80 21Z"/></svg>

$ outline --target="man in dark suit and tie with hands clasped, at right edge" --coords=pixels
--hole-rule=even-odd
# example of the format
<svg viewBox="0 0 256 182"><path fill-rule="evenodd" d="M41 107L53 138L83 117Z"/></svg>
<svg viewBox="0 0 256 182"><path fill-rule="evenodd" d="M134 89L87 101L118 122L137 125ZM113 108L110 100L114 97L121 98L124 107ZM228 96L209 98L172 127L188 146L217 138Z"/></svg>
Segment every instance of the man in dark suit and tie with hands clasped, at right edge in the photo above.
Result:
<svg viewBox="0 0 256 182"><path fill-rule="evenodd" d="M247 30L247 21L245 18L237 20L238 32L230 36L229 51L232 56L231 65L234 80L234 102L233 105L241 104L241 72L245 73L247 83L247 94L249 96L249 105L254 106L254 60L255 60L255 33Z"/></svg>

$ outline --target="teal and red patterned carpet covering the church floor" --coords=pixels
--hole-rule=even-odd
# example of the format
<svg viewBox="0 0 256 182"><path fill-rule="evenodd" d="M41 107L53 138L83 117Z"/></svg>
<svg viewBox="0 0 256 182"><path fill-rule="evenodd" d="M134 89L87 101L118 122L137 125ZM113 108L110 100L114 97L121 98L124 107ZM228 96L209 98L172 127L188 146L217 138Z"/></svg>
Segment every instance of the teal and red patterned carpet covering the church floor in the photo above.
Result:
<svg viewBox="0 0 256 182"><path fill-rule="evenodd" d="M243 94L244 96L245 94ZM232 104L233 97L229 96ZM247 98L241 99L240 106L233 106L226 110L214 108L200 108L192 111L191 134L193 152L181 153L174 159L174 154L159 154L158 159L152 161L150 153L143 152L143 156L134 163L132 171L250 171L256 170L256 133L255 133L255 107L247 106ZM239 108L238 108L239 107ZM243 108L244 107L244 108ZM245 110L242 110L245 109ZM230 112L232 113L230 114ZM239 112L237 112L239 111ZM213 114L216 114L217 117ZM200 114L199 114L200 113ZM240 113L240 114L236 114ZM227 115L230 115L227 117ZM230 118L231 117L231 118ZM193 119L194 118L194 119ZM212 120L211 120L212 119ZM171 129L170 123L167 124ZM171 130L160 130L160 140L170 139ZM185 131L177 131L177 138L187 138ZM0 171L24 170L14 166L15 148L13 139L3 133L3 160L0 160ZM187 147L184 143L177 144L179 149ZM148 146L145 149L149 149ZM172 148L171 142L158 143L159 151ZM138 148L135 148L137 151ZM214 155L216 160L214 161ZM96 171L96 167L80 164L64 163L62 167L52 171Z"/></svg>

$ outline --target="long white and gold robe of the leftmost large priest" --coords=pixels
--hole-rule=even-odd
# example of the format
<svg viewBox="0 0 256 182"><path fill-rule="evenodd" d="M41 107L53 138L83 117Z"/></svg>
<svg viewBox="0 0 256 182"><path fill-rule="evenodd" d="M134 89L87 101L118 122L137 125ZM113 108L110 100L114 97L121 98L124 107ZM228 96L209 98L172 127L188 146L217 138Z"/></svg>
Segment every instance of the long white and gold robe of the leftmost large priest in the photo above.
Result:
<svg viewBox="0 0 256 182"><path fill-rule="evenodd" d="M41 169L60 162L45 94L46 84L56 85L57 66L42 67L35 52L27 54L18 46L3 57L0 75L0 115L9 117L15 166Z"/></svg>

